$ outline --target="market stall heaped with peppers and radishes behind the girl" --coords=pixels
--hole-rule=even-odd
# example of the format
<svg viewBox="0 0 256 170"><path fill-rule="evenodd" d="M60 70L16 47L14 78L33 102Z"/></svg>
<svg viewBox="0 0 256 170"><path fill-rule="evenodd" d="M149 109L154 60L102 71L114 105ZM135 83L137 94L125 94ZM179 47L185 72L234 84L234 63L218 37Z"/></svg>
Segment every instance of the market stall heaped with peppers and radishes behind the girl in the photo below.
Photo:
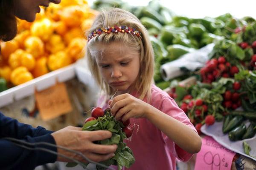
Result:
<svg viewBox="0 0 256 170"><path fill-rule="evenodd" d="M0 111L49 130L84 126L98 90L83 58L84 32L101 8L113 6L130 11L146 27L154 49L154 83L175 99L201 135L201 151L186 163L178 161L177 169L255 169L253 17L184 17L157 0L147 6L121 0L96 0L93 6L84 0L62 0L42 8L34 23L20 20L15 39L1 42ZM84 129L98 130L98 121L92 122ZM126 128L122 123L116 123L121 130ZM116 134L125 138L121 131Z"/></svg>

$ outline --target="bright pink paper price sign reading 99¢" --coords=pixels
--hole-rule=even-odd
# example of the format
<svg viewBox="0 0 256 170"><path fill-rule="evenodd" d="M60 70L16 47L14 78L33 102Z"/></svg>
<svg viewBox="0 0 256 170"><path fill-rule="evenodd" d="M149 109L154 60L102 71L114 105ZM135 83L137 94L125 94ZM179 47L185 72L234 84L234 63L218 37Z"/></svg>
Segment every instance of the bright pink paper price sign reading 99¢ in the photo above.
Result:
<svg viewBox="0 0 256 170"><path fill-rule="evenodd" d="M201 150L196 156L195 170L231 170L235 155L235 152L206 136L202 139Z"/></svg>

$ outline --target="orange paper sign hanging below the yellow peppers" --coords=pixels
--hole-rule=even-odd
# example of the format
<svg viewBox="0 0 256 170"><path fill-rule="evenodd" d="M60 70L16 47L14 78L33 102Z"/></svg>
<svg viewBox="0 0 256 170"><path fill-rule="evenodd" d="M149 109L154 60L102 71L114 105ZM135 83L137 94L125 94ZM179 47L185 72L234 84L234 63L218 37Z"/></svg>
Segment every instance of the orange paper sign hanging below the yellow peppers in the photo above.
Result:
<svg viewBox="0 0 256 170"><path fill-rule="evenodd" d="M39 114L44 121L72 111L64 83L57 83L55 86L41 92L35 92L35 98Z"/></svg>

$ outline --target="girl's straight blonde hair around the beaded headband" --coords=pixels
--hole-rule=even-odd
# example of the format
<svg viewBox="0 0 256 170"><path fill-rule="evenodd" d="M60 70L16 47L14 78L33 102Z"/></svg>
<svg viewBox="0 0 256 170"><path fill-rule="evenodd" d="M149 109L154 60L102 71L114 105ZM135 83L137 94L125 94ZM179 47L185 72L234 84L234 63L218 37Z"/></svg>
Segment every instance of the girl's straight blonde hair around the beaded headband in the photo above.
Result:
<svg viewBox="0 0 256 170"><path fill-rule="evenodd" d="M139 92L139 98L143 99L147 97L148 101L151 100L151 85L153 83L154 76L154 51L149 40L148 32L145 27L140 23L137 17L128 11L113 8L108 11L102 11L93 22L90 30L87 32L87 36L90 32L96 29L107 28L108 26L128 26L130 28L139 31L143 40L140 37L130 35L128 33L102 33L96 37L93 37L87 43L87 60L90 71L99 86L108 94L113 95L115 91L105 82L100 75L99 68L96 63L96 55L99 54L94 47L96 44L104 45L109 44L113 41L119 41L123 44L128 45L134 51L140 53L140 72L135 82L135 88ZM104 50L104 48L103 48ZM132 70L131 70L132 71Z"/></svg>

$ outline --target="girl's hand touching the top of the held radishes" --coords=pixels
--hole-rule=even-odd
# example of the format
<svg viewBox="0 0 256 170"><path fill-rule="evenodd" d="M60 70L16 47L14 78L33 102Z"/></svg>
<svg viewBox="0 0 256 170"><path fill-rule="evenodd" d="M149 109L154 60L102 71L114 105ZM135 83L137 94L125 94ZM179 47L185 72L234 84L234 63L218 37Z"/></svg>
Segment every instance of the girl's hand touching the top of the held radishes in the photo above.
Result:
<svg viewBox="0 0 256 170"><path fill-rule="evenodd" d="M151 105L146 102L135 98L134 96L125 93L118 95L109 102L112 115L116 120L122 118L125 122L129 118L144 118Z"/></svg>

